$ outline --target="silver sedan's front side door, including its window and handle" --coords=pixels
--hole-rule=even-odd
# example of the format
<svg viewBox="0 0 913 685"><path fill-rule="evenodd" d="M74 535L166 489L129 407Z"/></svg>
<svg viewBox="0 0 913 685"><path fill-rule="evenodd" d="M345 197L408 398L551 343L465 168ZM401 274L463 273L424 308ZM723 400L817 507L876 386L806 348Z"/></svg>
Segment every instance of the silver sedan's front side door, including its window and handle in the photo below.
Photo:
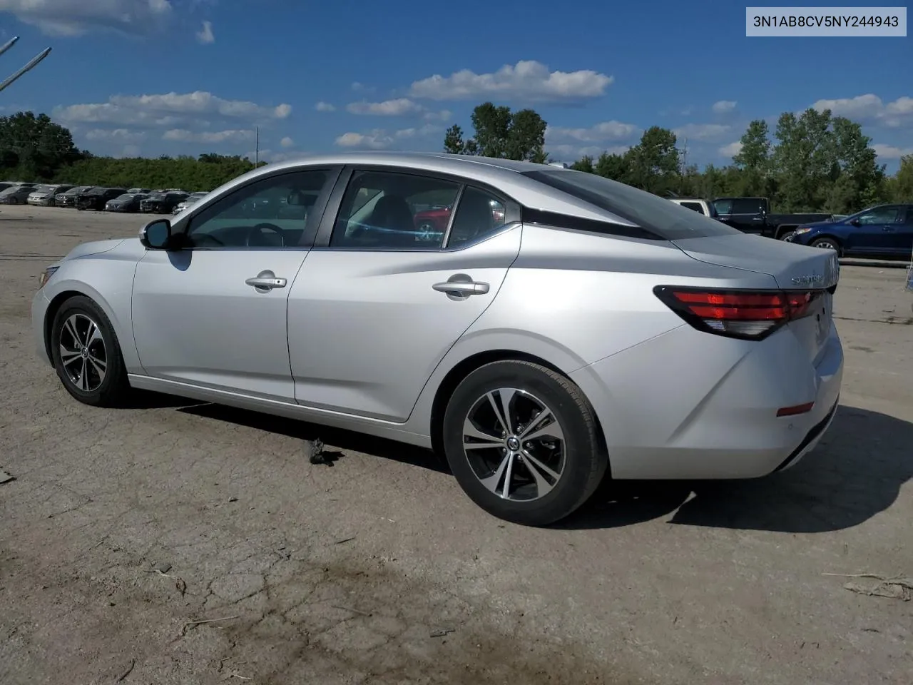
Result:
<svg viewBox="0 0 913 685"><path fill-rule="evenodd" d="M286 313L338 169L257 177L173 227L133 281L133 334L146 374L294 402ZM252 195L268 209L249 210ZM164 219L163 219L164 220Z"/></svg>

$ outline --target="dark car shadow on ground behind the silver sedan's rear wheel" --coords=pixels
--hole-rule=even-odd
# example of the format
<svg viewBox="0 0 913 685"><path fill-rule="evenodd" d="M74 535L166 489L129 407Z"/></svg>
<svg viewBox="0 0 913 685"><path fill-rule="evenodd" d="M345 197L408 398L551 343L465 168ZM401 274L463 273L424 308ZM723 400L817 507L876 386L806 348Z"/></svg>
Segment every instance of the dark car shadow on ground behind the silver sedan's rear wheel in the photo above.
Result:
<svg viewBox="0 0 913 685"><path fill-rule="evenodd" d="M598 529L670 516L679 525L829 532L887 510L913 478L913 424L840 406L830 430L792 469L761 479L607 482L558 528Z"/></svg>

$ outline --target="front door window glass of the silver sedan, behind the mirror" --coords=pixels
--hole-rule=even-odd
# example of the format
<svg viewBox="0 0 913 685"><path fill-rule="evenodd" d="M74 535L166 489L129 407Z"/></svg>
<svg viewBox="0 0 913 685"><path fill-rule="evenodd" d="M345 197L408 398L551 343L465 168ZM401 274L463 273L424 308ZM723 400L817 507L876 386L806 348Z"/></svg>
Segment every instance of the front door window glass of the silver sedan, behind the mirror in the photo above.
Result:
<svg viewBox="0 0 913 685"><path fill-rule="evenodd" d="M310 209L330 178L326 171L279 174L242 186L190 218L194 248L297 248L310 238Z"/></svg>

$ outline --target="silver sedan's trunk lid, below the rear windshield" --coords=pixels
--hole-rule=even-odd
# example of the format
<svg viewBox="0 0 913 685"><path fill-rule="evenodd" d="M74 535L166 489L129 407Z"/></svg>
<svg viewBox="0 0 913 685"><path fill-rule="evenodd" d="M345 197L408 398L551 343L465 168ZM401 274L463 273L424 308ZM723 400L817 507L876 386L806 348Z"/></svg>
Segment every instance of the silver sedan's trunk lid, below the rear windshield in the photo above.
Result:
<svg viewBox="0 0 913 685"><path fill-rule="evenodd" d="M824 290L807 316L787 324L809 357L817 361L831 330L833 290L840 276L840 262L834 250L748 235L691 237L672 242L698 261L769 274L775 281L771 290Z"/></svg>

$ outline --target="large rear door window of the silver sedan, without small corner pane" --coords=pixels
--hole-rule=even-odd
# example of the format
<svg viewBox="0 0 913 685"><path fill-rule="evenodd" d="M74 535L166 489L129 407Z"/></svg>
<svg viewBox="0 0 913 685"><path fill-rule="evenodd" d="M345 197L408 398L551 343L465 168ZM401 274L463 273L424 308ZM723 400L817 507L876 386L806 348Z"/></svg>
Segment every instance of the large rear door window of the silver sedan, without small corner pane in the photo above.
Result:
<svg viewBox="0 0 913 685"><path fill-rule="evenodd" d="M452 181L417 174L352 174L330 247L439 249L458 191Z"/></svg>

